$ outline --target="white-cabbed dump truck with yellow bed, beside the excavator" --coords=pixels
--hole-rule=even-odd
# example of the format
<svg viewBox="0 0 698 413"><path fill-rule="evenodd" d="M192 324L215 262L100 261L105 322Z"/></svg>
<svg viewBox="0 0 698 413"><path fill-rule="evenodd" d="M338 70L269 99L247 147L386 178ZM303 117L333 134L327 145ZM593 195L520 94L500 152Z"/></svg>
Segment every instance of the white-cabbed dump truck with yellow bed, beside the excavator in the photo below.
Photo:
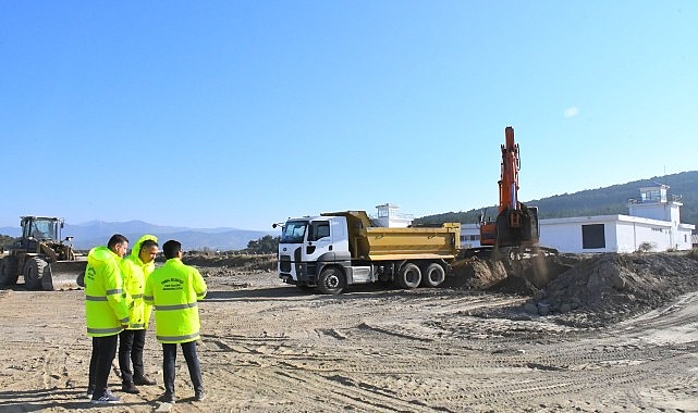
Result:
<svg viewBox="0 0 698 413"><path fill-rule="evenodd" d="M377 281L439 287L458 254L460 238L460 223L384 227L365 211L290 218L282 224L279 277L330 295Z"/></svg>

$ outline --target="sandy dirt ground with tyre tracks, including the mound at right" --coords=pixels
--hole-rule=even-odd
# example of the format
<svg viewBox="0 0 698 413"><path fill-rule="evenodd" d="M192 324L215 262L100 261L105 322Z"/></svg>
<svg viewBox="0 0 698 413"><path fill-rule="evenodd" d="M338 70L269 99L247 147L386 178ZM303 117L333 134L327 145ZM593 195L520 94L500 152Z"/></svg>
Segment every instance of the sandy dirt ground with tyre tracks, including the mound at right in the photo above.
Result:
<svg viewBox="0 0 698 413"><path fill-rule="evenodd" d="M444 288L282 284L273 264L189 259L207 277L194 402L174 405L150 330L139 395L84 399L83 291L0 290L0 412L696 412L698 262L608 254L457 262ZM261 270L260 270L261 268ZM151 329L154 326L151 326Z"/></svg>

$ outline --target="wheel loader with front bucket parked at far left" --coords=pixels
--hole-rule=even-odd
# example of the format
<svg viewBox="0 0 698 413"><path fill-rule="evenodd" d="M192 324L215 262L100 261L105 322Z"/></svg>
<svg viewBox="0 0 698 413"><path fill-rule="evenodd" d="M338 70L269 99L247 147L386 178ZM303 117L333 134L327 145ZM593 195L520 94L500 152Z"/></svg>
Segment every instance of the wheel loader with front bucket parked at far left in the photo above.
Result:
<svg viewBox="0 0 698 413"><path fill-rule="evenodd" d="M27 289L77 288L87 259L75 254L72 237L61 238L63 225L59 217L22 216L22 236L0 260L0 285L13 286L23 276Z"/></svg>

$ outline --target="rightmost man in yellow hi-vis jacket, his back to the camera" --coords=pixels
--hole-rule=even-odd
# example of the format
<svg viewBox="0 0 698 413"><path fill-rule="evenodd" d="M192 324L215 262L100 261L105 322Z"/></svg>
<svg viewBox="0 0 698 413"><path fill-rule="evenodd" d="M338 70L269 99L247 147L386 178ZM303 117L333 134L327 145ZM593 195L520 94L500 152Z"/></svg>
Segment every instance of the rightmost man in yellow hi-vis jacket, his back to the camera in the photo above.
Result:
<svg viewBox="0 0 698 413"><path fill-rule="evenodd" d="M164 265L156 268L146 281L144 299L155 306L156 338L162 343L162 378L164 393L160 401L174 403L174 373L176 345L189 370L194 399L204 400L204 381L196 353L199 336L198 301L206 297L206 281L193 266L182 262L182 245L169 240L162 246L167 259Z"/></svg>

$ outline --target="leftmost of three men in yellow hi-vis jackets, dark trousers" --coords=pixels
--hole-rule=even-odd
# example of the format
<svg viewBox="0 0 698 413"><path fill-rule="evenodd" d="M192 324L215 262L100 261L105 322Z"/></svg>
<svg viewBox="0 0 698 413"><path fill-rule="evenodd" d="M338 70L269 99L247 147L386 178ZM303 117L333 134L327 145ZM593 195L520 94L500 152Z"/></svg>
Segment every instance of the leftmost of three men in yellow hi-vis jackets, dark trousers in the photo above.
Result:
<svg viewBox="0 0 698 413"><path fill-rule="evenodd" d="M96 404L118 403L107 380L117 355L119 333L128 326L130 298L123 290L120 262L128 249L128 239L115 234L107 247L95 247L87 254L85 267L85 322L93 338L87 395Z"/></svg>

